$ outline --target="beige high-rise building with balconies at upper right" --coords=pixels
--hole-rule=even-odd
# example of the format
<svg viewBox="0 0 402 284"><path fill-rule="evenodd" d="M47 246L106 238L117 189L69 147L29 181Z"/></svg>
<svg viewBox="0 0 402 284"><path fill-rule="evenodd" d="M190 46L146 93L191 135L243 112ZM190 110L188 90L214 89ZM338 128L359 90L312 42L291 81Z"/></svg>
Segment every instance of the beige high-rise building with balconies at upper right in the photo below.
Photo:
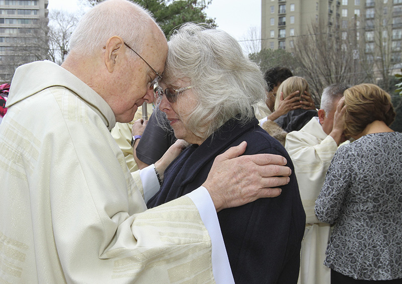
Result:
<svg viewBox="0 0 402 284"><path fill-rule="evenodd" d="M296 38L316 25L342 36L354 32L369 61L382 52L391 64L401 63L402 0L261 0L261 13L262 49L292 51Z"/></svg>

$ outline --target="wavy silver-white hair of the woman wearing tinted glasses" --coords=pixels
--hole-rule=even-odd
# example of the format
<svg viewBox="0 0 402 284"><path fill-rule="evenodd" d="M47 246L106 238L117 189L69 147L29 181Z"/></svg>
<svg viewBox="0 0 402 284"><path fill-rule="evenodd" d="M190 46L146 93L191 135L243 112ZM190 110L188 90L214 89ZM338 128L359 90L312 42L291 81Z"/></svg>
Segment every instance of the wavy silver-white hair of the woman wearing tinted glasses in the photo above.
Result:
<svg viewBox="0 0 402 284"><path fill-rule="evenodd" d="M190 80L197 105L186 126L203 139L232 118L250 121L253 106L266 97L263 73L236 39L208 27L187 23L173 33L162 79L166 84Z"/></svg>

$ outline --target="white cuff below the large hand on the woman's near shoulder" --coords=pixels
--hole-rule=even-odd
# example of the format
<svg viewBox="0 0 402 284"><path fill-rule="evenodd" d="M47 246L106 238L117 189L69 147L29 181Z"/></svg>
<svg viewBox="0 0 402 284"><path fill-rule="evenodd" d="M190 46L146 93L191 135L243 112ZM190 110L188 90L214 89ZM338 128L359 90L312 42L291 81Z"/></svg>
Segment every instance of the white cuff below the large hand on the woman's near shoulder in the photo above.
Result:
<svg viewBox="0 0 402 284"><path fill-rule="evenodd" d="M228 254L223 241L221 227L214 203L203 186L186 194L194 202L201 219L208 230L212 243L212 271L217 284L234 284Z"/></svg>

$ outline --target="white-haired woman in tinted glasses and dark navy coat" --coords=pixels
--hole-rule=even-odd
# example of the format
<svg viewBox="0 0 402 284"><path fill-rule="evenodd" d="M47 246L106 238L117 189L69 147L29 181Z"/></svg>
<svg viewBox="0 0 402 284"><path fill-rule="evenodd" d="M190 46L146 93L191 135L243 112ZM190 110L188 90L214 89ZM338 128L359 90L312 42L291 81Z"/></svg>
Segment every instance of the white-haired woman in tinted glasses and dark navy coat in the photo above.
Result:
<svg viewBox="0 0 402 284"><path fill-rule="evenodd" d="M258 126L252 106L265 98L265 80L224 31L182 26L169 42L157 94L174 134L191 145L168 167L154 207L201 185L214 158L247 142L245 154L274 153L283 146ZM305 227L295 175L274 199L218 213L236 283L297 283Z"/></svg>

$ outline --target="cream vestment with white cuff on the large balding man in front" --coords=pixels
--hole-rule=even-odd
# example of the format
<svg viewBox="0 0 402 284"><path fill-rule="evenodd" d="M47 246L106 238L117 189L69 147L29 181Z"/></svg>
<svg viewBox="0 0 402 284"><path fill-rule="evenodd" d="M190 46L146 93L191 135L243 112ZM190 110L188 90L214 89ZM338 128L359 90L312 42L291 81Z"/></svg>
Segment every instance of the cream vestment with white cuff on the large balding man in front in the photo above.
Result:
<svg viewBox="0 0 402 284"><path fill-rule="evenodd" d="M21 66L7 106L0 283L234 283L206 189L147 210L155 186L133 179L111 108L79 78Z"/></svg>

